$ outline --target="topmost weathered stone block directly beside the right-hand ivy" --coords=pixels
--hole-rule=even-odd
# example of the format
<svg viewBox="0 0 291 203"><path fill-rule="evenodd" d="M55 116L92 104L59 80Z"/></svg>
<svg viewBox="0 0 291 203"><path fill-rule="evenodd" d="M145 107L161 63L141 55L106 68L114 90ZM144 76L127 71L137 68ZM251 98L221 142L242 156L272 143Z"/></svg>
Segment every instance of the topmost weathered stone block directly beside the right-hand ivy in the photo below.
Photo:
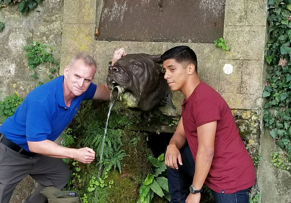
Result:
<svg viewBox="0 0 291 203"><path fill-rule="evenodd" d="M245 2L247 3L246 26L266 26L267 1L248 0Z"/></svg>

